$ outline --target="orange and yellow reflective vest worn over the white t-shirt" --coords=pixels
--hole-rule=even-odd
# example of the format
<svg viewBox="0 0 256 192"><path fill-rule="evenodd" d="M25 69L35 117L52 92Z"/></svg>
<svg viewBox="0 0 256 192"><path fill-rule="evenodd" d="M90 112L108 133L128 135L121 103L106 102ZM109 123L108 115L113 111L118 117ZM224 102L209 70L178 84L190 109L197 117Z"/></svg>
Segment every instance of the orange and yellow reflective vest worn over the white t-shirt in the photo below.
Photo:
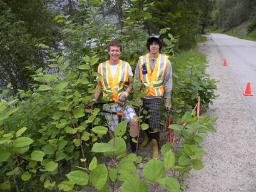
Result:
<svg viewBox="0 0 256 192"><path fill-rule="evenodd" d="M125 91L125 84L129 80L129 64L119 60L115 78L112 78L110 71L110 61L101 63L98 67L98 73L103 76L101 86L103 97L112 95L112 100L117 102L120 95Z"/></svg>

